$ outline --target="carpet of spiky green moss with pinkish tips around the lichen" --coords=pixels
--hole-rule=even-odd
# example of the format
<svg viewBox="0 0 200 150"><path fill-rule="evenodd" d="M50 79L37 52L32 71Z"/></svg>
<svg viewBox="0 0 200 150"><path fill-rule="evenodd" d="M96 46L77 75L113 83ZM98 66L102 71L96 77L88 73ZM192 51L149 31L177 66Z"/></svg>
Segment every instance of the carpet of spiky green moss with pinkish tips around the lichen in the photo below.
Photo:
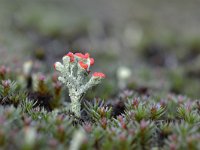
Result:
<svg viewBox="0 0 200 150"><path fill-rule="evenodd" d="M200 147L200 104L186 96L123 91L115 99L85 101L77 118L54 75L39 76L30 91L22 86L27 80L9 76L0 83L0 149Z"/></svg>

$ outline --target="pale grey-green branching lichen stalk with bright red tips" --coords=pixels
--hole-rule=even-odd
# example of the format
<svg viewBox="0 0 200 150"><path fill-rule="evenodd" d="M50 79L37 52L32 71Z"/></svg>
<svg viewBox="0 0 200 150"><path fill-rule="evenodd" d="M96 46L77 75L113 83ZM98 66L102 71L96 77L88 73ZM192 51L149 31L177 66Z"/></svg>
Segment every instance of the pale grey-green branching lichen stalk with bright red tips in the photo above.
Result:
<svg viewBox="0 0 200 150"><path fill-rule="evenodd" d="M94 59L88 53L71 53L63 57L63 63L56 62L54 67L60 72L58 80L69 90L71 99L71 112L77 117L81 116L81 100L87 90L101 82L105 75L101 72L93 73L89 79L90 66Z"/></svg>

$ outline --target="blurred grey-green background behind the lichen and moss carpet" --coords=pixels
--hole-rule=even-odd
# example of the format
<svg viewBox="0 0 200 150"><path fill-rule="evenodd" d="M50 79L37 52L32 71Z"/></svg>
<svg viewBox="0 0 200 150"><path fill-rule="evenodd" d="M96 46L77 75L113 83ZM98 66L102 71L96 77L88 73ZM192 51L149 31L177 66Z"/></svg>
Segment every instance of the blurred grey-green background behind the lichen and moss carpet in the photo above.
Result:
<svg viewBox="0 0 200 150"><path fill-rule="evenodd" d="M93 95L124 89L200 97L198 0L0 0L0 65L53 72L68 51L107 74ZM96 91L96 92L95 92ZM98 92L97 92L98 91Z"/></svg>

